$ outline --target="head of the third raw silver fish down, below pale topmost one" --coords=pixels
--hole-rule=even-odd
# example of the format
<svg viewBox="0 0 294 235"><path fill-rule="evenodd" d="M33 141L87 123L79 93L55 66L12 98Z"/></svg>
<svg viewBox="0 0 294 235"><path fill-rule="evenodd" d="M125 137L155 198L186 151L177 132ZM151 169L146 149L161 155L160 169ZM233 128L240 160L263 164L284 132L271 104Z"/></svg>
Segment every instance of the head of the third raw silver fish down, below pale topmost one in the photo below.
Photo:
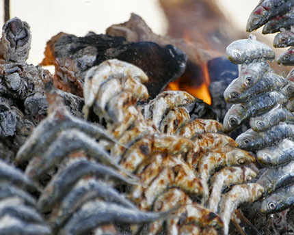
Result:
<svg viewBox="0 0 294 235"><path fill-rule="evenodd" d="M240 104L232 105L224 117L224 133L230 133L240 126L247 118L246 111L247 109Z"/></svg>

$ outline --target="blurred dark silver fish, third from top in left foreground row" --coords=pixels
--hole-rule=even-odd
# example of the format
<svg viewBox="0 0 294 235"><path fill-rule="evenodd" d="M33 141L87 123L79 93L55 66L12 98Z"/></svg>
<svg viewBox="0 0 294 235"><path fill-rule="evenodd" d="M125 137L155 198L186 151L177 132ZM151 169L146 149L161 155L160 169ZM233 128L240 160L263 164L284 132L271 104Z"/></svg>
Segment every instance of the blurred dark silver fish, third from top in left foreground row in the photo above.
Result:
<svg viewBox="0 0 294 235"><path fill-rule="evenodd" d="M75 174L73 172L75 172ZM118 180L128 184L138 184L136 180L125 178L116 170L105 165L85 159L70 161L64 169L53 177L42 192L38 200L38 208L40 211L46 212L51 210L52 206L56 204L60 198L67 195L69 189L71 189L79 179L85 176L108 178L109 180Z"/></svg>

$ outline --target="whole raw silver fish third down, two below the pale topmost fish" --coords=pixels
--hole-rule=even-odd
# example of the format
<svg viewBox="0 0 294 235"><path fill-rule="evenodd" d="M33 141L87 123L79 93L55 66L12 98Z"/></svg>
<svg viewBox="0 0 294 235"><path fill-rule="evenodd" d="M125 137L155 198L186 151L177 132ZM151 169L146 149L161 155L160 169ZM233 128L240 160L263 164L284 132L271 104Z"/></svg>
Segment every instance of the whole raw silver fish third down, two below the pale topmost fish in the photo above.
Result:
<svg viewBox="0 0 294 235"><path fill-rule="evenodd" d="M224 117L224 132L229 133L255 115L265 113L276 104L284 105L289 99L282 92L269 92L255 97L245 104L230 107Z"/></svg>

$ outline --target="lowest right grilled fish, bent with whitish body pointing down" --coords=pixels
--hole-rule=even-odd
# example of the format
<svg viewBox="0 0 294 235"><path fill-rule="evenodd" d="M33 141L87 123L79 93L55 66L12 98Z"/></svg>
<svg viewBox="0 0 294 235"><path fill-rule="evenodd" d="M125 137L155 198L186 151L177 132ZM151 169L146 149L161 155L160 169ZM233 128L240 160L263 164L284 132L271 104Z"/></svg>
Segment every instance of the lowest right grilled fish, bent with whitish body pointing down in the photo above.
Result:
<svg viewBox="0 0 294 235"><path fill-rule="evenodd" d="M237 209L239 204L250 204L263 195L265 189L260 184L239 184L232 186L223 197L219 209L219 215L224 221L224 235L228 234L228 225L232 213Z"/></svg>

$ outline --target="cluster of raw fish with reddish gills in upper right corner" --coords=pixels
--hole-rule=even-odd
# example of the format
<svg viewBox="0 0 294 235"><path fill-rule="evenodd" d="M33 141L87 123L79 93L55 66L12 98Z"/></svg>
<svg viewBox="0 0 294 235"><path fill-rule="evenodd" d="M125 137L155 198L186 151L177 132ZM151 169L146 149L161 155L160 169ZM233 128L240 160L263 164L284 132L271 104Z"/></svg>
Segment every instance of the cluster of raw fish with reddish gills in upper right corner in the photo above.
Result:
<svg viewBox="0 0 294 235"><path fill-rule="evenodd" d="M293 66L294 1L261 0L248 18L247 31L251 32L262 26L264 34L280 31L273 40L273 46L291 47L280 54L276 62L284 66Z"/></svg>

